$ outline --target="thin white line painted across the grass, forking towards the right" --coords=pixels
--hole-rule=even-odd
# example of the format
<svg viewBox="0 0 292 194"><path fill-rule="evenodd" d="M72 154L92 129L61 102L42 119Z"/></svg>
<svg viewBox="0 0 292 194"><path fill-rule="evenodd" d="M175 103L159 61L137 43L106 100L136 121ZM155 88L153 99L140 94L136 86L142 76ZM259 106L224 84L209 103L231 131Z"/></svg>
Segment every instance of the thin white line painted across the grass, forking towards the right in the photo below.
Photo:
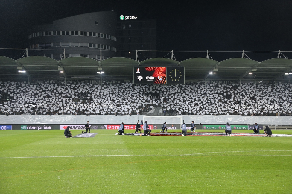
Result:
<svg viewBox="0 0 292 194"><path fill-rule="evenodd" d="M194 154L182 154L182 155L61 155L61 156L24 156L24 157L3 157L0 159L9 158L66 158L66 157L116 157L116 156L188 156L188 155L204 155L212 153L232 153L232 152L285 152L292 150L252 150L252 151L227 151L227 152L205 152L205 153L194 153ZM217 154L219 155L219 154ZM208 155L206 155L208 156ZM232 156L232 155L230 155ZM243 155L244 156L244 155ZM252 155L250 155L252 156ZM254 155L254 156L292 156L292 155Z"/></svg>

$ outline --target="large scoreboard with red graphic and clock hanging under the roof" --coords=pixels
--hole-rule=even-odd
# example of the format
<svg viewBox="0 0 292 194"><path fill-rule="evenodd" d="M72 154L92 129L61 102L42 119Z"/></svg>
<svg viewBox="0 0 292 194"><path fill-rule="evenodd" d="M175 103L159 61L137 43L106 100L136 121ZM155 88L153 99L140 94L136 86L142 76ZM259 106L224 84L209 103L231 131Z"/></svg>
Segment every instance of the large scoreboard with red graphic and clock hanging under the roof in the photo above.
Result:
<svg viewBox="0 0 292 194"><path fill-rule="evenodd" d="M134 67L133 84L185 84L185 68Z"/></svg>

